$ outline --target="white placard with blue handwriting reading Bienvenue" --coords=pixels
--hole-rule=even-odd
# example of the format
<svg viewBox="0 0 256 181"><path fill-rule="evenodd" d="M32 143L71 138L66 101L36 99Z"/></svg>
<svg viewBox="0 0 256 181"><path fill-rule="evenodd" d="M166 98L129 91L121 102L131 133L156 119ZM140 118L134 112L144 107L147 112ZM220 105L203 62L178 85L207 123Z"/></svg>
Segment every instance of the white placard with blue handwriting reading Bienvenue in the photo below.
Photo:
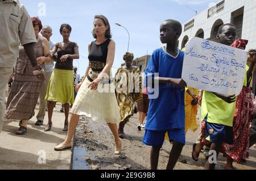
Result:
<svg viewBox="0 0 256 181"><path fill-rule="evenodd" d="M185 47L182 78L188 87L239 95L246 62L245 50L193 37Z"/></svg>

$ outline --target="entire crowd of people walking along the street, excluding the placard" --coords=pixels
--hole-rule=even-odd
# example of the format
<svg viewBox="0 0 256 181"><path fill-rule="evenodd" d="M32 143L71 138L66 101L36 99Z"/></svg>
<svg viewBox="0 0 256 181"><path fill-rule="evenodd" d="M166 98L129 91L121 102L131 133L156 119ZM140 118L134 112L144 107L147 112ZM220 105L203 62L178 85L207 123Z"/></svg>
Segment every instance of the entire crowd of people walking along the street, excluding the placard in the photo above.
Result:
<svg viewBox="0 0 256 181"><path fill-rule="evenodd" d="M134 104L137 103L137 128L141 131L144 127L142 142L151 146L151 169L158 168L159 151L164 140L172 144L167 169L174 169L177 160L181 159L185 134L188 129L197 130L199 105L201 128L199 139L193 145L192 159L198 161L204 146L208 147L205 153L207 158L211 156L209 150L227 157L225 169L234 169L233 161L240 163L249 156L249 148L256 140L254 98L250 88L256 62L255 49L248 51L250 66L246 67L240 95L227 96L188 88L181 79L184 50L177 48L182 26L180 22L168 19L160 25L160 41L167 46L152 53L144 79L141 70L133 66L134 54L130 52L123 56L125 65L117 70L113 78L111 69L115 42L112 40L110 23L104 15L96 15L92 31L95 40L88 45L89 65L80 80L77 68L73 67L73 60L79 59L79 45L69 40L72 27L61 24L59 32L63 40L53 43L52 28L43 26L39 18L30 18L19 1L2 2L7 16L1 16L1 22L5 18L16 20L17 15L22 19L19 24L1 24L6 36L1 37L0 42L0 132L3 117L6 117L19 120L16 134L26 134L28 120L35 114L38 99L40 106L35 124L43 125L47 110L48 123L44 131L51 131L53 108L59 102L64 107L63 131L67 131L67 137L55 150L72 147L79 117L85 115L97 123L108 125L114 137L113 152L120 154L120 138L125 138L124 127L134 115ZM11 14L10 8L14 9L14 13ZM247 40L236 40L236 27L233 24L220 26L217 40L218 43L240 49L245 49L249 43ZM5 106L6 85L12 73L14 81ZM157 77L154 76L156 73ZM159 95L152 98L155 87L158 87ZM214 169L215 165L207 160L205 169Z"/></svg>

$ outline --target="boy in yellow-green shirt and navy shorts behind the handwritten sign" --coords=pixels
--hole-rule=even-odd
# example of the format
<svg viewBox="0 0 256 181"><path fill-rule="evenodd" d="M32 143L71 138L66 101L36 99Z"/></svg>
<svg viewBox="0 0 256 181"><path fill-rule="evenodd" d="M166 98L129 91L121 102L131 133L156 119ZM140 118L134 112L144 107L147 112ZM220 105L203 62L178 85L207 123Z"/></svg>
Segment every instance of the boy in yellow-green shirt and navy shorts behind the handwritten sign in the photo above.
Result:
<svg viewBox="0 0 256 181"><path fill-rule="evenodd" d="M233 24L223 24L217 34L218 42L231 45L236 38L236 27ZM217 156L223 142L233 144L233 116L236 108L236 96L204 91L201 117L205 121L205 137L210 141L209 159L205 169L214 169ZM197 161L203 144L194 144L192 158Z"/></svg>

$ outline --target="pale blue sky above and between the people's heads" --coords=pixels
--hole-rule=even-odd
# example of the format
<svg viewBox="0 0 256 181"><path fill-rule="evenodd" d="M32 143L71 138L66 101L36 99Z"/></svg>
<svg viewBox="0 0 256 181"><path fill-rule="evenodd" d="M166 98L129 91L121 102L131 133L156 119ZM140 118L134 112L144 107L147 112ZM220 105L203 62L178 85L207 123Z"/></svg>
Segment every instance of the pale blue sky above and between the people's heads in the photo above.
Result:
<svg viewBox="0 0 256 181"><path fill-rule="evenodd" d="M195 12L208 8L216 0L20 0L30 16L39 16L43 25L53 29L52 41L60 42L60 24L68 23L72 26L71 41L79 45L80 60L74 61L74 66L79 67L79 73L84 75L88 66L88 43L93 41L93 18L96 14L105 15L110 22L113 40L116 43L113 73L123 62L122 56L127 51L128 34L122 27L115 26L115 22L122 24L130 32L129 52L135 57L144 56L160 47L159 27L166 19L179 20L181 24L187 22ZM42 6L46 5L46 15L40 16Z"/></svg>

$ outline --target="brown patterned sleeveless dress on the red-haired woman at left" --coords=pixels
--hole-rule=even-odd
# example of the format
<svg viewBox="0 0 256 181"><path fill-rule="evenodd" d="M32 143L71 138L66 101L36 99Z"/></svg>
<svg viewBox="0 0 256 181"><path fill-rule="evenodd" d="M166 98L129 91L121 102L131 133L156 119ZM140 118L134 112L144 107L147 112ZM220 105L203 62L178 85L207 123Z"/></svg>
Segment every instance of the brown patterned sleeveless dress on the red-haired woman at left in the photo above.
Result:
<svg viewBox="0 0 256 181"><path fill-rule="evenodd" d="M43 38L35 44L36 57L43 56ZM44 63L42 64L44 68ZM7 99L5 117L7 119L29 120L35 115L36 102L42 82L33 75L33 68L23 46L19 47L13 86Z"/></svg>

